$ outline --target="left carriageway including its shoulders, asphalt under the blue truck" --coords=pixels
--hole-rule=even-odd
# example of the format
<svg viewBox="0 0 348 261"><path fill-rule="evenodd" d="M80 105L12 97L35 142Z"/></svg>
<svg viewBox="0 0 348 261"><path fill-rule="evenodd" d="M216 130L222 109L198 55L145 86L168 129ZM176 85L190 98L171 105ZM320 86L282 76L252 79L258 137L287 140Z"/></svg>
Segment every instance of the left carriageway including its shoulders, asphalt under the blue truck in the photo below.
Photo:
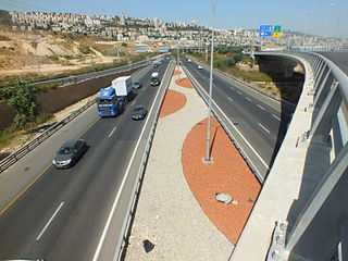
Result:
<svg viewBox="0 0 348 261"><path fill-rule="evenodd" d="M167 64L157 69L160 78ZM150 110L160 89L150 86L153 71L134 75L142 87L122 115L99 119L95 105L1 174L0 184L10 188L16 178L28 181L22 192L1 190L0 260L112 260L142 156L137 146L146 141L147 121L132 121L132 108ZM89 148L75 166L55 170L55 150L71 138L86 139Z"/></svg>

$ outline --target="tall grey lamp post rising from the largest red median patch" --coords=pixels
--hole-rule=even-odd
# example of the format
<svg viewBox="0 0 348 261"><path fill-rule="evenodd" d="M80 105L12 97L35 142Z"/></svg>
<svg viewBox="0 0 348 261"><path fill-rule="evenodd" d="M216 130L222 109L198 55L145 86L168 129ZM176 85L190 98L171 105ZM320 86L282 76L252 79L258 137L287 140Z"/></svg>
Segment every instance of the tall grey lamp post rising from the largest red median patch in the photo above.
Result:
<svg viewBox="0 0 348 261"><path fill-rule="evenodd" d="M211 0L212 3L212 28L211 28L211 52L210 52L210 79L209 79L209 108L208 108L208 125L207 125L207 154L206 163L211 163L210 154L210 138L211 138L211 99L213 86L213 59L214 59L214 26L215 26L215 3L216 0Z"/></svg>

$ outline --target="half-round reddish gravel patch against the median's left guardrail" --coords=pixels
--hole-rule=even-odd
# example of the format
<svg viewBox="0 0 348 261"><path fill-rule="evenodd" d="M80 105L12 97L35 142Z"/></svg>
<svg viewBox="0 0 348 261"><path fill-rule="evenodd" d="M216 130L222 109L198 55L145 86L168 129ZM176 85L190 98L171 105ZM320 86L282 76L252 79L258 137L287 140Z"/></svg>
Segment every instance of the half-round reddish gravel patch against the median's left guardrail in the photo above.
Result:
<svg viewBox="0 0 348 261"><path fill-rule="evenodd" d="M185 95L172 89L166 90L160 117L164 117L181 110L186 104L186 101L187 99Z"/></svg>

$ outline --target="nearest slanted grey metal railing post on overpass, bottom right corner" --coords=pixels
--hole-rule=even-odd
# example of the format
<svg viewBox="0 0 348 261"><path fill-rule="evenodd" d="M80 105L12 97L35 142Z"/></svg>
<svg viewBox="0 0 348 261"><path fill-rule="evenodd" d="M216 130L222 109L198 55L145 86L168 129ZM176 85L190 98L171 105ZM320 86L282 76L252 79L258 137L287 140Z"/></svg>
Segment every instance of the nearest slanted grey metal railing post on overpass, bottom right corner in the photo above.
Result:
<svg viewBox="0 0 348 261"><path fill-rule="evenodd" d="M326 170L290 231L286 245L286 252L291 253L289 260L331 260L339 240L346 244L343 252L347 257L347 171L348 144Z"/></svg>

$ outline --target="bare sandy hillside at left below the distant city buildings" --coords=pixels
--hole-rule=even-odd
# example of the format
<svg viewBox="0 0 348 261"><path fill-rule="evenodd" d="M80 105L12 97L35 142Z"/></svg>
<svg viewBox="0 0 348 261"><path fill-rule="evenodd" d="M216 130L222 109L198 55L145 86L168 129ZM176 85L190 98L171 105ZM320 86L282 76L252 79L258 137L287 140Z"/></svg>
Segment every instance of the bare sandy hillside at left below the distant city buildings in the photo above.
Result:
<svg viewBox="0 0 348 261"><path fill-rule="evenodd" d="M0 80L59 74L89 66L90 61L112 63L115 46L98 37L0 27ZM121 45L120 45L121 46ZM120 47L121 49L121 47ZM121 53L126 52L125 48Z"/></svg>

